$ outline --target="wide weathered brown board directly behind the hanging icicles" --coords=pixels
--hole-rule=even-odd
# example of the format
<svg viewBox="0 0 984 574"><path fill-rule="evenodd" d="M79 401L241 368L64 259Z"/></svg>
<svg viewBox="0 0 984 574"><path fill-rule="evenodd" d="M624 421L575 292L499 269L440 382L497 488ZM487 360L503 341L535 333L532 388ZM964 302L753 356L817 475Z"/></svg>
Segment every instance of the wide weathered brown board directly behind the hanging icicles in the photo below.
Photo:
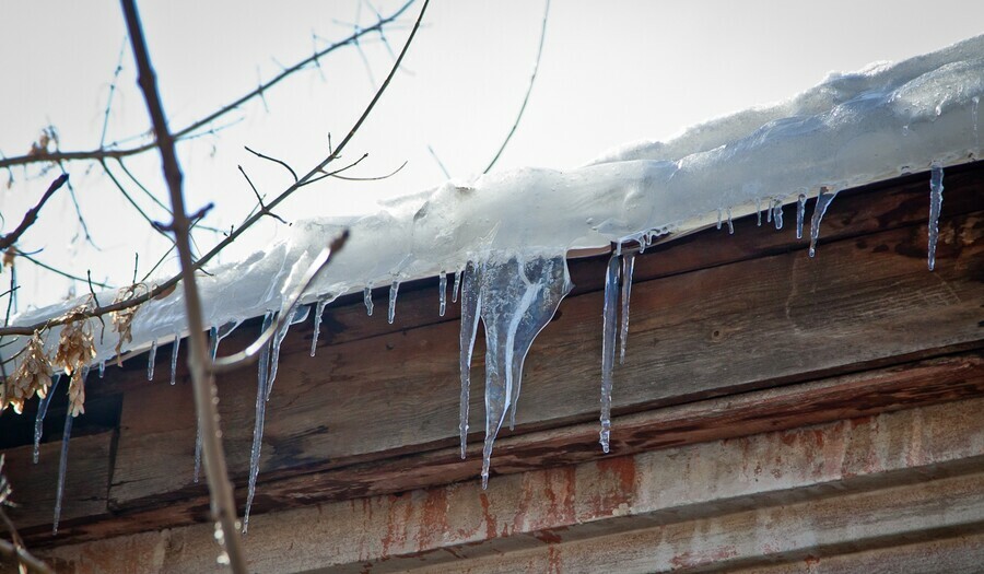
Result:
<svg viewBox="0 0 984 574"><path fill-rule="evenodd" d="M980 345L981 219L957 218L941 229L933 273L925 270L924 230L902 227L828 244L813 260L787 253L636 284L629 359L616 372L616 411ZM565 302L534 345L520 432L597 417L600 307L598 293ZM449 324L332 345L317 359L284 356L268 403L262 477L453 444L456 364L457 325ZM253 377L247 372L221 384L226 452L239 480L251 440ZM481 429L476 387L471 424ZM168 408L155 415L150 406L161 405ZM186 387L148 385L127 394L114 507L202 492L190 481L192 411ZM186 468L176 468L181 460Z"/></svg>

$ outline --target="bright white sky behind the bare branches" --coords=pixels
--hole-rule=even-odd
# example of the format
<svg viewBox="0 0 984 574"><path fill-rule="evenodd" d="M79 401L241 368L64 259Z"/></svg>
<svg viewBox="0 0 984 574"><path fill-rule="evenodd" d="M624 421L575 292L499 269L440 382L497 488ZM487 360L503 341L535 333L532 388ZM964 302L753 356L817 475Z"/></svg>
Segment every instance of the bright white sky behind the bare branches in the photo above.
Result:
<svg viewBox="0 0 984 574"><path fill-rule="evenodd" d="M380 1L389 14L401 2ZM388 32L399 51L420 5ZM254 89L312 52L312 34L338 39L375 21L355 0L142 2L142 17L173 129L198 119ZM382 196L412 192L444 176L427 152L433 147L455 177L481 172L512 126L536 56L543 3L437 0L431 4L405 60L347 159L370 157L352 175L382 175L405 161L397 176L378 183L314 185L278 212L288 220L371 209ZM947 15L946 21L939 21ZM341 21L342 23L338 23ZM523 165L573 167L608 148L639 139L666 139L689 125L787 98L830 71L856 70L876 60L901 60L977 35L984 2L936 1L634 1L554 0L540 73L526 115L496 169ZM108 0L17 0L0 9L0 152L25 153L51 124L62 150L98 144L113 70L124 44L119 5ZM318 45L324 45L318 40ZM286 187L285 172L243 150L250 145L305 172L327 155L327 134L341 140L393 58L374 36L359 51L343 49L301 72L220 124L238 120L219 137L181 144L189 209L215 201L207 223L238 224L254 198L236 169L242 164L261 192ZM280 63L278 63L280 62ZM370 70L370 71L367 71ZM147 131L129 52L113 106L108 140ZM165 198L155 153L128 163ZM113 166L110 166L113 167ZM69 195L59 195L21 241L38 259L94 279L131 279L133 253L140 276L167 243L121 198L99 169L68 165L82 214L98 250L77 238ZM118 171L117 171L118 172ZM0 173L0 184L8 179ZM52 179L38 169L13 171L0 189L2 232L19 222ZM121 175L121 174L120 174ZM132 186L131 186L132 187ZM132 188L152 218L164 220ZM270 221L237 242L224 260L283 235ZM201 248L218 241L197 236ZM398 248L382 246L380 248ZM165 271L174 270L173 263ZM26 261L17 266L21 306L63 297L73 282ZM7 271L0 283L9 281ZM79 292L84 284L74 285ZM0 290L2 291L2 290ZM5 304L5 301L4 301Z"/></svg>

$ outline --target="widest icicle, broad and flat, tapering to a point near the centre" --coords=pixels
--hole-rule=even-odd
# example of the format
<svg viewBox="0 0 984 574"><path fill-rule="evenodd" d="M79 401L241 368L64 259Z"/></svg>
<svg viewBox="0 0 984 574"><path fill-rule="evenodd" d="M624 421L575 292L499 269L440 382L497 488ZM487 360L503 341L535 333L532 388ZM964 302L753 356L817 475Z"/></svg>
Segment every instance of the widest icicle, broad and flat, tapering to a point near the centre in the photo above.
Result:
<svg viewBox="0 0 984 574"><path fill-rule="evenodd" d="M516 399L523 363L536 336L571 290L563 256L528 261L517 256L489 261L481 272L485 326L485 443L482 487L489 483L492 446Z"/></svg>

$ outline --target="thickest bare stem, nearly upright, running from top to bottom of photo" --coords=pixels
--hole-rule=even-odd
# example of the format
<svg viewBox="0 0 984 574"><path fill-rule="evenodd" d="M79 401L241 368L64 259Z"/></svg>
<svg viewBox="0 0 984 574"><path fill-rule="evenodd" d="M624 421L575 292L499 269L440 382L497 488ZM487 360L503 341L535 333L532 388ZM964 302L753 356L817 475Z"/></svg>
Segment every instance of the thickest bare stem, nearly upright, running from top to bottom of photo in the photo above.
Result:
<svg viewBox="0 0 984 574"><path fill-rule="evenodd" d="M221 430L219 425L218 394L215 377L208 371L209 355L206 348L204 325L201 316L201 301L198 285L195 282L195 263L191 260L191 224L185 212L185 197L181 191L181 169L175 152L174 138L167 128L167 118L161 105L154 70L147 50L147 42L140 24L134 0L121 0L133 48L133 58L139 71L138 84L147 101L148 113L157 139L157 149L163 161L164 179L171 192L172 212L174 213L174 236L178 257L181 261L181 281L185 292L185 313L188 318L189 347L191 356L189 367L195 391L195 410L202 436L202 454L206 478L211 494L212 517L222 530L221 542L232 571L239 574L247 572L246 555L236 524L236 506L225 456L222 452Z"/></svg>

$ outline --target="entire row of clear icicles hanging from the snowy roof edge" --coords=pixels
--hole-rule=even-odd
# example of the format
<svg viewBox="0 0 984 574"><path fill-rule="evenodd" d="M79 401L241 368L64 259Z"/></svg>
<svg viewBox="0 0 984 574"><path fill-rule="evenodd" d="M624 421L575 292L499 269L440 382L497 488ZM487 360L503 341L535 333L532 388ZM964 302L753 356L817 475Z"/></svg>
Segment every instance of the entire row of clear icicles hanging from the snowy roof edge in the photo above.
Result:
<svg viewBox="0 0 984 574"><path fill-rule="evenodd" d="M942 207L942 167L933 164L930 171L930 201L928 222L928 268L932 271L936 263L936 243L939 236L938 222ZM817 203L810 220L810 246L809 256L813 257L817 250L817 242L820 237L820 222L823 214L836 196L836 191L828 191L822 188L817 197ZM760 206L759 206L760 207ZM725 213L727 214L725 219ZM803 238L803 227L806 214L806 196L799 195L796 203L796 238ZM783 229L783 203L772 200L765 209L766 222L772 222L776 230ZM718 210L717 229L721 230L724 221L727 222L728 233L735 233L731 221L730 208ZM762 211L759 210L757 223L762 225ZM644 253L651 242L663 234L663 231L647 232L639 236L637 253ZM619 341L619 361L625 360L625 345L629 337L629 301L632 293L632 273L635 266L636 249L623 249L618 244L608 261L605 273L604 297L604 327L601 345L601 449L608 453L611 436L611 391L612 371L614 366L617 335ZM447 273L440 274L438 283L438 315L444 316L447 307ZM396 315L396 301L399 292L399 281L395 280L389 289L388 323L393 324ZM492 455L492 444L505 420L506 411L511 412L509 427L515 426L516 405L519 396L523 361L537 333L550 321L560 301L566 295L573 285L570 283L566 268L566 259L563 256L553 258L539 257L529 261L512 257L506 261L469 262L465 270L454 273L454 286L452 288L452 302L457 302L458 294L461 298L461 336L460 336L460 372L461 372L461 398L459 434L461 458L465 458L468 436L468 407L471 354L475 338L478 330L479 318L485 326L487 347L487 378L485 378L485 444L482 453L482 488L488 485ZM367 315L373 314L373 285L366 285L364 290L364 303ZM621 295L621 317L618 317L619 298ZM509 298L516 297L516 298ZM315 305L314 337L311 345L311 355L317 350L320 332L321 315L325 307L335 297L323 297ZM257 376L256 419L253 431L253 447L249 456L249 485L246 499L246 511L243 519L243 532L249 527L249 511L256 493L256 481L259 475L259 459L263 436L263 419L266 405L270 399L273 380L277 377L277 367L280 361L280 344L286 337L291 325L304 321L309 312L309 306L300 307L292 320L284 327L261 351L259 358L259 373ZM266 330L276 319L274 313L267 313L262 320L262 330ZM237 326L238 321L230 323L210 329L210 352L212 359L216 356L219 342L227 337ZM262 332L261 330L261 332ZM180 335L175 335L171 355L171 384L175 384L177 371L178 349ZM157 341L153 341L148 353L149 380L154 378L154 363L156 360ZM105 373L105 361L98 364L99 378ZM83 380L89 376L89 368L82 374ZM51 390L40 400L34 426L34 462L38 461L39 445L44 426L45 413L55 389L61 378L60 374L52 377ZM62 433L61 458L58 465L58 485L55 503L55 519L52 531L57 534L58 522L61 514L62 496L65 493L66 468L68 466L69 438L72 431L71 411L69 410L65 421ZM201 430L196 436L195 444L195 482L199 481L201 472Z"/></svg>

